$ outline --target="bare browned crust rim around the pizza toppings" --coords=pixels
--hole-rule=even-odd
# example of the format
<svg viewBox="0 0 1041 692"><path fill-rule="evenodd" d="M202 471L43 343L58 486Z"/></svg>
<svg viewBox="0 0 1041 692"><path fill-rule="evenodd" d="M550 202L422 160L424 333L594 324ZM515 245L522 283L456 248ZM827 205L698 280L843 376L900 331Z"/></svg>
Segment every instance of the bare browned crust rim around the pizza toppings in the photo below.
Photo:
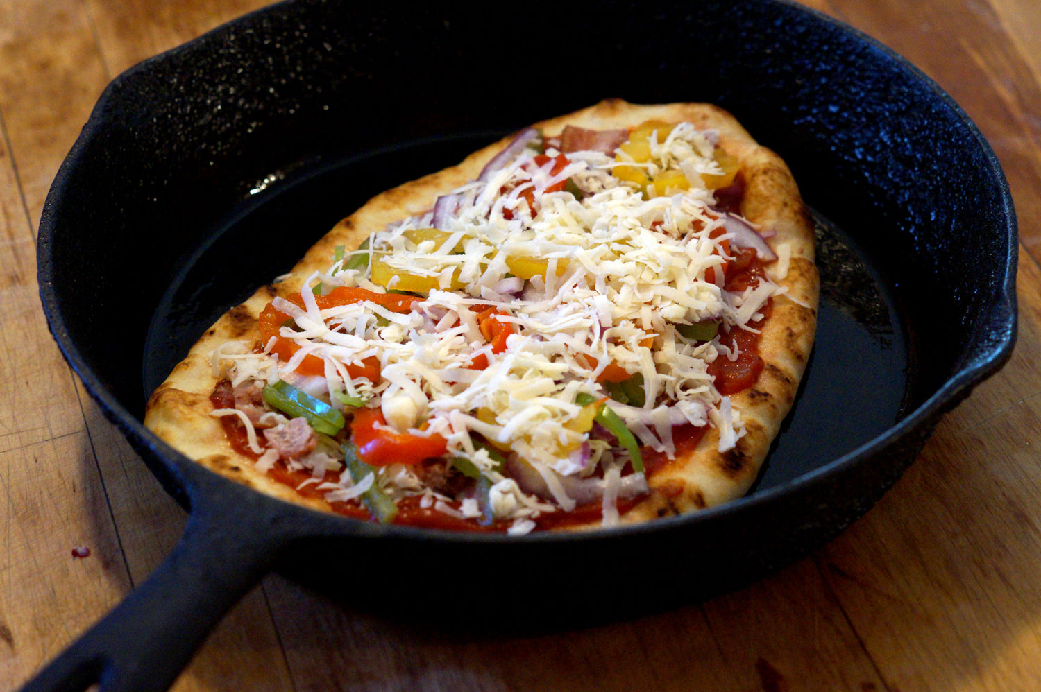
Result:
<svg viewBox="0 0 1041 692"><path fill-rule="evenodd" d="M739 161L744 175L742 215L760 228L776 232L767 240L776 252L787 248L789 260L785 277L772 276L776 267L767 265L770 278L786 287L787 293L771 299L772 312L759 338L764 367L758 381L731 395L734 407L741 411L745 435L733 448L720 453L718 432L710 428L693 451L678 456L651 476L651 492L623 515L623 523L712 507L747 492L794 401L816 326L818 279L809 212L784 161L758 145L729 112L710 104L642 106L607 100L537 123L535 127L555 134L564 125L611 129L635 126L651 119L689 122L699 128L719 132L719 146ZM471 154L458 165L382 193L337 224L307 251L283 280L261 286L205 332L150 398L145 425L180 453L222 476L280 499L331 511L326 501L303 496L256 470L251 458L232 447L221 420L210 415L213 406L209 395L218 382L212 374L210 354L229 340L257 340L258 315L264 306L275 296L299 292L307 276L328 268L336 246L355 248L370 233L429 208L438 195L476 178L508 142L509 138L505 138ZM599 522L573 524L568 529L599 526Z"/></svg>

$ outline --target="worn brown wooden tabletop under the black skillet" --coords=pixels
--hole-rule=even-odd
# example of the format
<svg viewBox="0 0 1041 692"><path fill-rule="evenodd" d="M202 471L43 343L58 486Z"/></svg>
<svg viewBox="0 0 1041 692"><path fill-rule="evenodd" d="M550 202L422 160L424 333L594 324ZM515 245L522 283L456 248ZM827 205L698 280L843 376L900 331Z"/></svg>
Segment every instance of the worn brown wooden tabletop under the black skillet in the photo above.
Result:
<svg viewBox="0 0 1041 692"><path fill-rule="evenodd" d="M36 294L44 197L101 89L261 0L0 2L0 688L177 540L183 512L99 414ZM701 606L446 638L269 576L177 690L1013 690L1041 686L1041 3L812 0L968 111L1019 214L1019 341L896 487L811 558ZM73 548L90 557L77 559Z"/></svg>

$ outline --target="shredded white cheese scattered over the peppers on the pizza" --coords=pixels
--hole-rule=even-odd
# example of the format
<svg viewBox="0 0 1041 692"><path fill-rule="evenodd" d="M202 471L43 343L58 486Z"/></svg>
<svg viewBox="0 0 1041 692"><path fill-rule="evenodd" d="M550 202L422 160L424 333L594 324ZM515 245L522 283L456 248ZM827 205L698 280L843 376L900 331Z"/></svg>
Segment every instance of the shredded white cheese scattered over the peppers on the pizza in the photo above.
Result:
<svg viewBox="0 0 1041 692"><path fill-rule="evenodd" d="M723 241L732 237L701 178L720 173L711 135L681 124L664 140L652 137L651 152L642 164L651 174L680 171L689 189L644 199L636 184L612 175L613 157L568 153L554 173L559 152L536 159L526 151L487 182L454 190L455 212L439 228L431 227L428 212L373 233L367 267L344 270L338 261L312 275L303 309L275 299L275 307L296 322L281 336L299 347L278 365L280 376L290 379L306 355L316 356L325 378L312 384L328 396L361 395L367 406L381 406L396 429L445 436L451 457L467 459L497 483L496 516L514 519L517 533L553 505L575 507L562 478L587 478L605 464L604 521L615 523L618 469L628 457L590 440L588 429L574 429L582 408L578 394L605 396L598 378L620 367L642 377L644 403L610 406L641 444L671 456L674 426L689 422L716 426L720 450L733 446L743 434L740 413L716 391L707 367L734 354L717 340L686 339L678 327L714 321L746 328L779 290L763 281L731 294L710 280L710 270L721 276ZM568 180L570 191L547 191ZM393 278L374 283L377 263ZM376 291L422 285L426 298L408 313L371 303L323 310L312 294L320 284ZM513 330L502 353L494 353L479 324L479 312L489 307ZM347 365L371 357L379 360L380 381L352 380ZM469 367L482 358L486 367ZM214 368L225 359L247 374L239 380L273 377L243 349L214 354ZM549 488L542 499L553 505L492 470L474 435L530 464ZM590 452L584 461L583 445ZM381 487L414 494L412 481L401 484L390 476L380 475ZM445 499L431 496L435 507Z"/></svg>

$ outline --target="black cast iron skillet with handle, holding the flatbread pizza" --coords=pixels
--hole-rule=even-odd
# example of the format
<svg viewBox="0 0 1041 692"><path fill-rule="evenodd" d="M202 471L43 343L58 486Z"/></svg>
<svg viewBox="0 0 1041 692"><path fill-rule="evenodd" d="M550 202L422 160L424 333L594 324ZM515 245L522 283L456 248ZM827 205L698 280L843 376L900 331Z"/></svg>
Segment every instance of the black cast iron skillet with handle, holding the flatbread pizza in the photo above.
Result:
<svg viewBox="0 0 1041 692"><path fill-rule="evenodd" d="M191 514L156 572L27 689L164 689L275 568L337 593L357 583L373 603L447 574L437 586L458 604L473 597L451 595L465 564L493 576L528 613L519 621L556 613L558 624L743 585L864 513L1009 357L1005 178L965 113L887 49L775 0L531 5L541 19L523 27L434 4L269 7L133 68L99 101L44 210L44 309L102 410ZM582 535L382 527L255 493L142 427L147 391L209 321L339 216L605 97L725 106L830 221L810 374L752 495Z"/></svg>

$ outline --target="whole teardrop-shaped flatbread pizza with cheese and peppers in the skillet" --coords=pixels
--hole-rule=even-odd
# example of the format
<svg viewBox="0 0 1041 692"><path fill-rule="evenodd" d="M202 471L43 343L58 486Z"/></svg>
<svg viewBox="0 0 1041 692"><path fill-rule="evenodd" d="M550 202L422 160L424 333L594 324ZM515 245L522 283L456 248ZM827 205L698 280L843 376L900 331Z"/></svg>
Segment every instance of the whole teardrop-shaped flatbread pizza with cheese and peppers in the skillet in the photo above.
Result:
<svg viewBox="0 0 1041 692"><path fill-rule="evenodd" d="M776 154L712 105L604 101L371 200L221 317L145 422L360 519L646 521L748 490L817 292Z"/></svg>

